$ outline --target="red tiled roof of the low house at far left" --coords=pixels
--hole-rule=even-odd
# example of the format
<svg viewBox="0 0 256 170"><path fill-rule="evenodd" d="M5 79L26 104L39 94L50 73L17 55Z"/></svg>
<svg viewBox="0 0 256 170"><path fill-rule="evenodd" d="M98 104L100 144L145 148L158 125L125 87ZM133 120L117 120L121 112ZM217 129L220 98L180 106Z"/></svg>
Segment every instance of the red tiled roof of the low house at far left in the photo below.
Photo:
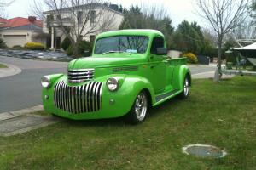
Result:
<svg viewBox="0 0 256 170"><path fill-rule="evenodd" d="M16 17L13 19L3 19L0 18L0 22L3 22L5 24L0 25L0 27L4 27L4 28L15 28L15 27L19 27L19 26L28 26L28 25L35 25L38 27L43 27L42 21L41 20L34 20L33 22L29 21L26 18L22 18L22 17Z"/></svg>

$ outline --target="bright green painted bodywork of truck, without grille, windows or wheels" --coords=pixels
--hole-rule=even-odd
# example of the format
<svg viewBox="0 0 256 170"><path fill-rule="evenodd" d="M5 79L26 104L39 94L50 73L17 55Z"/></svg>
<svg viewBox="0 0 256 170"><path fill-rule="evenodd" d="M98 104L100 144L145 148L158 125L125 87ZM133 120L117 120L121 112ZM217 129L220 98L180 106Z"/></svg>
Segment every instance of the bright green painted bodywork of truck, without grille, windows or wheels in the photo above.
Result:
<svg viewBox="0 0 256 170"><path fill-rule="evenodd" d="M88 58L74 59L69 63L68 70L94 69L93 79L87 82L71 83L68 82L67 75L49 75L50 87L43 88L42 94L45 111L76 120L112 118L128 113L137 94L142 90L148 92L153 106L160 105L167 99L183 92L184 78L186 76L191 78L186 59L169 59L165 55L156 55L150 52L154 37L164 39L160 31L110 31L96 37L96 42L101 38L118 36L148 37L148 47L145 54L116 51L108 54L93 53ZM164 47L166 47L165 41ZM114 92L109 91L106 85L110 77L119 80L119 88ZM90 82L102 82L100 109L95 112L72 114L57 108L54 102L55 85L60 81L66 82L68 87L80 87ZM45 99L45 95L49 96L49 99Z"/></svg>

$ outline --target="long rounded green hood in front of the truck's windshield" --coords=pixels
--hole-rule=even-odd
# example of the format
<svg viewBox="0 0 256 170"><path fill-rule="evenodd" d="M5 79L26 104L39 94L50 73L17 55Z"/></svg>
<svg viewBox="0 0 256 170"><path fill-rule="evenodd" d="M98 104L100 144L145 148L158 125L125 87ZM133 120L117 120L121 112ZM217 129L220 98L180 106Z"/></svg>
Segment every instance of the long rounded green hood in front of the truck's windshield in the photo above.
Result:
<svg viewBox="0 0 256 170"><path fill-rule="evenodd" d="M143 63L145 58L141 54L122 54L120 57L115 57L114 55L101 55L101 56L93 56L93 57L86 57L80 59L72 60L69 65L68 69L86 69L86 68L104 68L104 67L114 67L119 65L137 65L139 63ZM141 56L141 57L138 57Z"/></svg>

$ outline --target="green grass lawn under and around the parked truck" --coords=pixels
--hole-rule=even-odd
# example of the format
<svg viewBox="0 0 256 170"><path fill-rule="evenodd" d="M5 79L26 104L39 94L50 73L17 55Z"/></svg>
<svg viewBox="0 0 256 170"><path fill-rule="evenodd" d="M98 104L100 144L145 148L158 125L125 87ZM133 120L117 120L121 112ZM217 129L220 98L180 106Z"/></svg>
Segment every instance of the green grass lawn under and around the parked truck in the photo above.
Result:
<svg viewBox="0 0 256 170"><path fill-rule="evenodd" d="M0 137L0 169L256 169L256 77L195 80L191 90L189 99L167 101L137 126L64 121ZM187 144L216 145L228 155L187 156Z"/></svg>

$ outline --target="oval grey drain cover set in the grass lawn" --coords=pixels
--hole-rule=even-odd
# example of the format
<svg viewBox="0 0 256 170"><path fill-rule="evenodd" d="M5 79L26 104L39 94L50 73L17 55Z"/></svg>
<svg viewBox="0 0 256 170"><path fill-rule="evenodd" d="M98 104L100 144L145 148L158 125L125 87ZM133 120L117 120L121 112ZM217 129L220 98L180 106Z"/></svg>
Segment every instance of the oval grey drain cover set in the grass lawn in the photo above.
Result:
<svg viewBox="0 0 256 170"><path fill-rule="evenodd" d="M224 150L207 144L189 144L183 147L183 153L197 157L220 158L227 155Z"/></svg>

